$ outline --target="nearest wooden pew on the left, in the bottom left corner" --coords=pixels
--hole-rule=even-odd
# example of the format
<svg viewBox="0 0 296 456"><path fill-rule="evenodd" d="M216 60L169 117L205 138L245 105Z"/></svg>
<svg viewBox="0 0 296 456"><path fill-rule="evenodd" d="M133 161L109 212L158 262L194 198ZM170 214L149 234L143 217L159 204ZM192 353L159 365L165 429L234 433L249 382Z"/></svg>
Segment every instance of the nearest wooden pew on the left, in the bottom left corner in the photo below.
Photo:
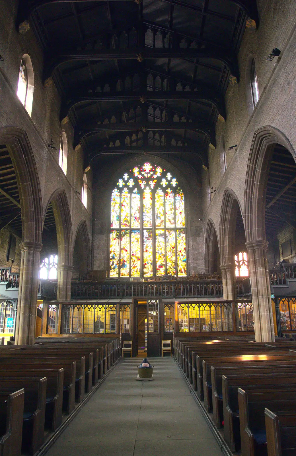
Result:
<svg viewBox="0 0 296 456"><path fill-rule="evenodd" d="M0 392L0 455L20 456L24 414L24 389Z"/></svg>

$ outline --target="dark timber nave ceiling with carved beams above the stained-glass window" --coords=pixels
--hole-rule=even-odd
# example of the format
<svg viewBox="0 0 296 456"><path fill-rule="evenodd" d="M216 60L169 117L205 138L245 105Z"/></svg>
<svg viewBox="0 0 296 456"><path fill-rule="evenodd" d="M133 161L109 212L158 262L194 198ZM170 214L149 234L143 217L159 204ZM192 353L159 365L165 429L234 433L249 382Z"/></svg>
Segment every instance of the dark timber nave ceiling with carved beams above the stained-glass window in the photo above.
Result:
<svg viewBox="0 0 296 456"><path fill-rule="evenodd" d="M207 166L237 52L258 25L255 0L22 0L85 166L169 154ZM26 24L26 22L25 22Z"/></svg>

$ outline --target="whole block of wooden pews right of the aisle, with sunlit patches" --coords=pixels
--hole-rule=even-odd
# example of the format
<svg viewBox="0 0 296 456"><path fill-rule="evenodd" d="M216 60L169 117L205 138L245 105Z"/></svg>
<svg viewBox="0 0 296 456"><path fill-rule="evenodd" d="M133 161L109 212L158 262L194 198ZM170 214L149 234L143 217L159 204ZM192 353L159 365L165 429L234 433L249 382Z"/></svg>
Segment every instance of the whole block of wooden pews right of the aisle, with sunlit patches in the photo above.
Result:
<svg viewBox="0 0 296 456"><path fill-rule="evenodd" d="M182 335L174 356L230 451L295 456L296 342L249 338Z"/></svg>

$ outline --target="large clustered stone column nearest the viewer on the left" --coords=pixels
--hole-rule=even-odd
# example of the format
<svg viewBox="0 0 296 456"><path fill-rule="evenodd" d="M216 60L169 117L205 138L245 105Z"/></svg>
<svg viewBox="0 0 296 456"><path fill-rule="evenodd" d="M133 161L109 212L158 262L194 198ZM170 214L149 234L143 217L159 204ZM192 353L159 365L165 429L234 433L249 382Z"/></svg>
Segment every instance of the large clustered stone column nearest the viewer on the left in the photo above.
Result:
<svg viewBox="0 0 296 456"><path fill-rule="evenodd" d="M20 244L20 286L15 325L15 343L33 345L37 312L38 273L42 244Z"/></svg>

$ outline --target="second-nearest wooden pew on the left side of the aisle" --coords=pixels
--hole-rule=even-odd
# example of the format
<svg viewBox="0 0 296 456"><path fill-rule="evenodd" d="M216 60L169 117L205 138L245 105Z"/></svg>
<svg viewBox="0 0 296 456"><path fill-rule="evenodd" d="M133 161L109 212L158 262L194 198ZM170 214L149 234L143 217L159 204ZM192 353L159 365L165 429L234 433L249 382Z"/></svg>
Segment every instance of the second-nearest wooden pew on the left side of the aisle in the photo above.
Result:
<svg viewBox="0 0 296 456"><path fill-rule="evenodd" d="M46 377L0 377L0 385L8 394L20 387L25 390L21 451L34 455L44 440Z"/></svg>

